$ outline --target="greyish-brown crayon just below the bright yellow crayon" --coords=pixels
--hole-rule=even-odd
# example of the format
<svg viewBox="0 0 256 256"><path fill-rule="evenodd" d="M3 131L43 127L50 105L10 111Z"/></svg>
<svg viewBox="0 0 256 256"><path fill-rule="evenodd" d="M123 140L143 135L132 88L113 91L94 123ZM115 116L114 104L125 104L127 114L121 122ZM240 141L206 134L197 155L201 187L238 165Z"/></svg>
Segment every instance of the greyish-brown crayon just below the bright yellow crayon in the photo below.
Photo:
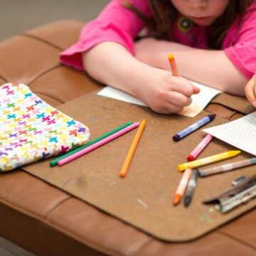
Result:
<svg viewBox="0 0 256 256"><path fill-rule="evenodd" d="M220 166L215 166L215 167L211 167L211 168L207 168L207 169L203 169L203 170L198 170L198 173L199 173L199 176L206 177L209 175L219 174L219 173L222 173L225 171L231 171L234 169L238 169L238 168L245 167L245 166L250 166L253 164L256 164L256 157L252 157L250 159L245 159L245 160L241 160L241 161L235 161L230 164L223 164Z"/></svg>

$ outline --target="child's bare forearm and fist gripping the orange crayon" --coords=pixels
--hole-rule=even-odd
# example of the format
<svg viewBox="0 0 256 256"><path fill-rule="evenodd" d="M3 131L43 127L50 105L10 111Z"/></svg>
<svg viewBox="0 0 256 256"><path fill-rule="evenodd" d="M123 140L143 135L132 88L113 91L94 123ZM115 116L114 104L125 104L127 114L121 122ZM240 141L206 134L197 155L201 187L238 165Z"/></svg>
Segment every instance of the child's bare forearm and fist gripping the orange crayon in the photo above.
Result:
<svg viewBox="0 0 256 256"><path fill-rule="evenodd" d="M166 56L164 59L168 63ZM137 60L119 43L100 43L83 53L82 60L92 78L139 97L159 113L180 112L191 103L191 95L199 92L169 70Z"/></svg>

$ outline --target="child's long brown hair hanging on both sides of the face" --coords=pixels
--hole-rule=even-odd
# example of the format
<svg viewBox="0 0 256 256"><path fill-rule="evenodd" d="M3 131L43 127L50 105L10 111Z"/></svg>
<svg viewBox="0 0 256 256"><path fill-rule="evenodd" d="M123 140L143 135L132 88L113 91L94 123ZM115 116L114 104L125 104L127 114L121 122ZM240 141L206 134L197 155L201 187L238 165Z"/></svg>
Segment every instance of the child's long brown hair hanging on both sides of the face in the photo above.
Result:
<svg viewBox="0 0 256 256"><path fill-rule="evenodd" d="M145 0L146 1L146 0ZM123 6L133 11L146 23L151 36L164 39L172 38L172 27L178 10L170 0L147 0L154 14L154 19L142 14L128 1L123 2ZM227 8L213 24L206 29L207 46L211 49L220 49L225 38L228 28L236 18L241 16L247 7L255 0L230 0Z"/></svg>

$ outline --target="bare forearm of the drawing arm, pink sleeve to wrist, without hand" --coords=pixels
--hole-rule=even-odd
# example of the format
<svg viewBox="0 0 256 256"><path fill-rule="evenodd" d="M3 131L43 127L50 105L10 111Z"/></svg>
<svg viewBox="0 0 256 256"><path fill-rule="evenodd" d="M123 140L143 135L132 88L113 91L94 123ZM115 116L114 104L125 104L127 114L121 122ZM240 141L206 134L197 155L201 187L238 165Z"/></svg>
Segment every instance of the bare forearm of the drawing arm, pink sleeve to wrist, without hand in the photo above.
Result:
<svg viewBox="0 0 256 256"><path fill-rule="evenodd" d="M146 64L132 56L119 43L100 43L82 56L85 70L92 78L132 95L138 95L138 81ZM140 86L141 87L141 86Z"/></svg>

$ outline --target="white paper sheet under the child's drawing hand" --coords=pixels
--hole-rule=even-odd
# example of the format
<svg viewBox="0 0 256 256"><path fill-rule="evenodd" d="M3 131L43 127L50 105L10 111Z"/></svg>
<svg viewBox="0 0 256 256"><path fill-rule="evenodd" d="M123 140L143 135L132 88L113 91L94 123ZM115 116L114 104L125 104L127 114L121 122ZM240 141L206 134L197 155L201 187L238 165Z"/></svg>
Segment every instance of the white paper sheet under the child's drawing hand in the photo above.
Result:
<svg viewBox="0 0 256 256"><path fill-rule="evenodd" d="M204 107L213 99L216 95L218 95L221 91L216 90L212 87L208 87L206 85L202 85L198 82L193 82L194 85L198 86L201 89L201 92L198 95L193 95L191 105L188 107L184 107L182 114L186 117L195 117L196 114L200 113ZM122 100L124 102L130 102L133 104L141 105L147 107L147 105L136 97L129 95L127 92L123 92L122 90L117 90L114 87L106 86L104 89L100 90L97 93L98 95L111 97L115 100Z"/></svg>

